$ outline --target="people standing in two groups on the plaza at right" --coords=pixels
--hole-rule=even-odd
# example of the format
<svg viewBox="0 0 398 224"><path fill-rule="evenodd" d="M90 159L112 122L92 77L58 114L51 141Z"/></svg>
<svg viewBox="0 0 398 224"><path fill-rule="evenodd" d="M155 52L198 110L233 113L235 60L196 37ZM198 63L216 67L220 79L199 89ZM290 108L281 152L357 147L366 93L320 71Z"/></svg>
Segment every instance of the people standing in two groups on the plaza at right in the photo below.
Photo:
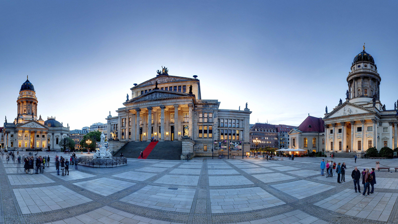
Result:
<svg viewBox="0 0 398 224"><path fill-rule="evenodd" d="M355 163L357 162L357 156L355 156ZM333 162L332 160L327 160L325 162L324 159L322 159L322 162L320 162L320 175L324 175L324 169L326 168L326 178L328 177L335 177L337 174L337 183L342 183L345 182L345 172L347 169L347 166L345 163L340 164L336 162ZM372 171L369 172L369 169L366 168L362 172L358 170L358 167L355 167L354 170L351 173L352 180L354 182L354 189L355 192L361 193L361 187L359 185L360 179L362 179L362 184L364 186L364 191L363 191L363 196L365 196L366 190L368 190L368 194L373 194L374 193L374 185L376 184L376 174L375 174L375 168L371 169ZM372 187L372 190L370 190L370 187ZM358 190L358 191L357 191Z"/></svg>

